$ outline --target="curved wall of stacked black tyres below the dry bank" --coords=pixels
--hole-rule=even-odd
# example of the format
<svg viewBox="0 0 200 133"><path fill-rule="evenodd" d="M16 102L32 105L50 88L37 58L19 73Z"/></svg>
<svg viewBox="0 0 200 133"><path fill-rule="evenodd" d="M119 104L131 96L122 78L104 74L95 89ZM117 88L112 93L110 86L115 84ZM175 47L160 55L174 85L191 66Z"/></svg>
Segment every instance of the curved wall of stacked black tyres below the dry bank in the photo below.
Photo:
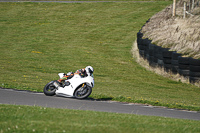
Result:
<svg viewBox="0 0 200 133"><path fill-rule="evenodd" d="M166 72L180 74L189 78L190 83L200 82L200 60L191 57L182 57L176 51L162 48L151 43L148 38L143 39L143 33L137 33L137 46L142 58L149 62L151 67L164 68Z"/></svg>

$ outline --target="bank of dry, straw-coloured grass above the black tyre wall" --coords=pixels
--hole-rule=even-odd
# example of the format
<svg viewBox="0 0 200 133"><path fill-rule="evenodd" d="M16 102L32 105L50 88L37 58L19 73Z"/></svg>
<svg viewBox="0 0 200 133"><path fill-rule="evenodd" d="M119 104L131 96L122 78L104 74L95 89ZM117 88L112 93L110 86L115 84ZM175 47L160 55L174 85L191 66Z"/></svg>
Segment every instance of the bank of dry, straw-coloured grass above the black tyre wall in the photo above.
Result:
<svg viewBox="0 0 200 133"><path fill-rule="evenodd" d="M200 5L190 13L183 18L183 0L177 3L175 17L172 17L172 5L166 7L142 27L143 38L185 57L200 59Z"/></svg>

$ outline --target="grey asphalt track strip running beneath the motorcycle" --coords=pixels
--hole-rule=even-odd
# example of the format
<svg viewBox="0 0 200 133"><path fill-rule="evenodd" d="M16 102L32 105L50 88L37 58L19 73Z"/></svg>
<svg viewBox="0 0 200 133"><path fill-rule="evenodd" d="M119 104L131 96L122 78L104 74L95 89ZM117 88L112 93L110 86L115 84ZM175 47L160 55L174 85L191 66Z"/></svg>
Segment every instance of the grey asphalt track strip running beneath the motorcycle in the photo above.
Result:
<svg viewBox="0 0 200 133"><path fill-rule="evenodd" d="M176 110L164 107L120 103L114 101L96 101L90 98L78 100L75 98L45 96L43 93L2 88L0 89L0 104L41 106L50 108L91 110L100 112L200 120L200 113L196 111Z"/></svg>

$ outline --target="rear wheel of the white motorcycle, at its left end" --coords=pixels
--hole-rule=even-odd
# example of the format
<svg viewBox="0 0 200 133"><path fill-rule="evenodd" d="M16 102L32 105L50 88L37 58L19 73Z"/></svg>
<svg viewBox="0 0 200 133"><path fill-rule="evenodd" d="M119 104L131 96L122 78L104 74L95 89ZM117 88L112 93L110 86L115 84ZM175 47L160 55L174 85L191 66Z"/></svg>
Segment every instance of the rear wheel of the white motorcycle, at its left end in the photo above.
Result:
<svg viewBox="0 0 200 133"><path fill-rule="evenodd" d="M55 95L55 92L56 92L56 87L53 85L55 81L51 81L49 83L47 83L43 89L44 91L44 94L46 96L53 96Z"/></svg>

